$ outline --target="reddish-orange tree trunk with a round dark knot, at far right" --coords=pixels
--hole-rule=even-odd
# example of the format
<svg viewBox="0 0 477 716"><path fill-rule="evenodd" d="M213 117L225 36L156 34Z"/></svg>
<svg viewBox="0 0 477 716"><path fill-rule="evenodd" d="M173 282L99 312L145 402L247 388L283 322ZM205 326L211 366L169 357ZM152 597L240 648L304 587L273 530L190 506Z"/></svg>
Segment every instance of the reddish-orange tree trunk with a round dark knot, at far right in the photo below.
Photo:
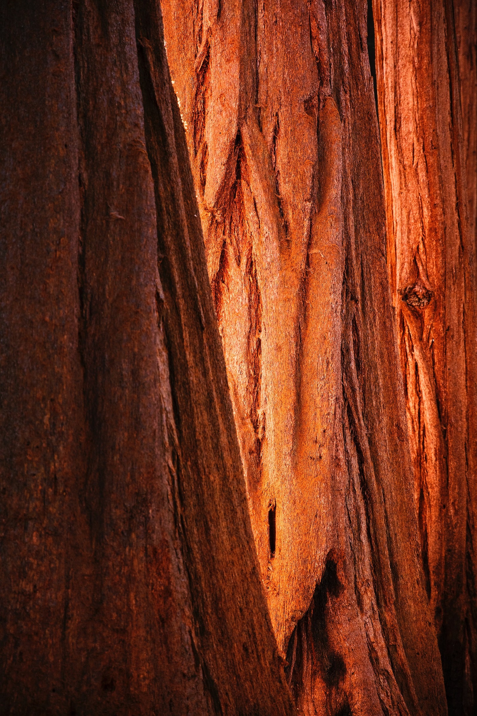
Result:
<svg viewBox="0 0 477 716"><path fill-rule="evenodd" d="M470 715L477 697L476 6L375 0L374 14L388 268L415 510L449 711Z"/></svg>

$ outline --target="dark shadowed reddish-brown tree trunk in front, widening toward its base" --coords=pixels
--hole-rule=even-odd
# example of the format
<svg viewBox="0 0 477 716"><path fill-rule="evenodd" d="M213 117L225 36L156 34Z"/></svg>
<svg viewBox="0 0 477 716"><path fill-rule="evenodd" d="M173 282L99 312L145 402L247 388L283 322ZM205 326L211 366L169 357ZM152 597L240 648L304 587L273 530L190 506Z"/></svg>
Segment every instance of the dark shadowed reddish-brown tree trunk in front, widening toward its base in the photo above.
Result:
<svg viewBox="0 0 477 716"><path fill-rule="evenodd" d="M292 715L157 4L0 38L0 712Z"/></svg>

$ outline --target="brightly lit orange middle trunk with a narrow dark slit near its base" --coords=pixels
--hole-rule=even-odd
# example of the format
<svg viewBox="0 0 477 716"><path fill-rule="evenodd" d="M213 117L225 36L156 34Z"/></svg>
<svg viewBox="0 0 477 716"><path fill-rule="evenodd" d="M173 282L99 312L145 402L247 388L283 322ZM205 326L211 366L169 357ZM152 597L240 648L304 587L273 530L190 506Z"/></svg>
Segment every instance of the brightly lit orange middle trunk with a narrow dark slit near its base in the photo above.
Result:
<svg viewBox="0 0 477 716"><path fill-rule="evenodd" d="M385 266L367 7L163 0L162 11L252 528L299 712L445 714ZM421 276L410 294L427 291Z"/></svg>

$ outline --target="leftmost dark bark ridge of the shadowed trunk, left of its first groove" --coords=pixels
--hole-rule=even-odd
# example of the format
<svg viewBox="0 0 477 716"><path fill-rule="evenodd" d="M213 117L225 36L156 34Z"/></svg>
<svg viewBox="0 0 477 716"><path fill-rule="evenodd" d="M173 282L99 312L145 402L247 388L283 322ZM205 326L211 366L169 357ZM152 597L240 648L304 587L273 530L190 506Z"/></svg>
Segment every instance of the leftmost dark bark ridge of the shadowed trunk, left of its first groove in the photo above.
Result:
<svg viewBox="0 0 477 716"><path fill-rule="evenodd" d="M65 679L82 465L77 121L69 4L1 8L1 709ZM21 17L21 44L18 24ZM30 52L23 52L24 46ZM25 88L34 86L34 92ZM41 102L38 102L41 97ZM44 155L29 155L36 136ZM24 188L28 187L28 193ZM34 210L33 210L34 208ZM35 277L36 278L35 280ZM41 277L41 279L40 279ZM12 330L11 326L15 326ZM24 351L31 346L31 352ZM69 513L65 522L63 510ZM69 548L57 551L58 541ZM56 629L49 629L56 624ZM29 654L42 654L33 662ZM16 688L9 676L16 674Z"/></svg>

